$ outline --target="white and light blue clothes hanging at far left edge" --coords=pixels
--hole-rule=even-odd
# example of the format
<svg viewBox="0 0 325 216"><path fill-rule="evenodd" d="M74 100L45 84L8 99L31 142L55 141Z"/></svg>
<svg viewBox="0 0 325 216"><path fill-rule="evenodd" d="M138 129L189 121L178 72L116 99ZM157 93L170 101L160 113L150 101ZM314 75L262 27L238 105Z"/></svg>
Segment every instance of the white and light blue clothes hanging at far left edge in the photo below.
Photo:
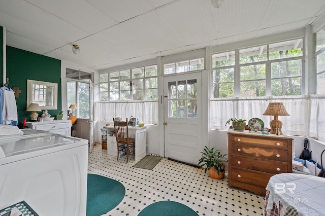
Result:
<svg viewBox="0 0 325 216"><path fill-rule="evenodd" d="M7 86L0 88L0 124L18 125L18 111L14 91Z"/></svg>

